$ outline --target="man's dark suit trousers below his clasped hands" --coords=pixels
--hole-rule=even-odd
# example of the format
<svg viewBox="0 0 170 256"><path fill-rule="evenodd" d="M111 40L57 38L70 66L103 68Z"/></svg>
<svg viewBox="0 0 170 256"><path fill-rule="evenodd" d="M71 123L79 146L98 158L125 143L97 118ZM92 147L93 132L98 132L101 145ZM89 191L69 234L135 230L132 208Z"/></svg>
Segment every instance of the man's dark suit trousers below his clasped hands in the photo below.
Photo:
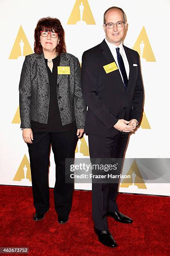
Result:
<svg viewBox="0 0 170 256"><path fill-rule="evenodd" d="M121 171L124 151L129 134L118 133L116 136L102 137L89 134L89 152L91 161L96 158L119 158ZM121 165L121 166L120 166ZM92 216L94 226L99 230L107 230L107 212L118 211L116 202L117 183L95 183L92 180Z"/></svg>

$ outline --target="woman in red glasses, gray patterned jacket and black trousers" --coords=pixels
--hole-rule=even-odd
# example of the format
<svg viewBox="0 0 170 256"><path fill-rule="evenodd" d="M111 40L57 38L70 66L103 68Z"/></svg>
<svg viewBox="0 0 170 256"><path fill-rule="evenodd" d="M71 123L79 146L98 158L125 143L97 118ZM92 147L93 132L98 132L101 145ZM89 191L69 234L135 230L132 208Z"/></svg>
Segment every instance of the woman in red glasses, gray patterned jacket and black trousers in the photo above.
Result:
<svg viewBox="0 0 170 256"><path fill-rule="evenodd" d="M34 34L34 54L25 56L20 77L20 119L28 145L36 208L34 220L49 209L50 146L56 164L54 202L58 222L71 210L73 183L65 182L65 159L74 159L84 132L86 105L81 93L79 60L66 53L64 31L56 18L42 18Z"/></svg>

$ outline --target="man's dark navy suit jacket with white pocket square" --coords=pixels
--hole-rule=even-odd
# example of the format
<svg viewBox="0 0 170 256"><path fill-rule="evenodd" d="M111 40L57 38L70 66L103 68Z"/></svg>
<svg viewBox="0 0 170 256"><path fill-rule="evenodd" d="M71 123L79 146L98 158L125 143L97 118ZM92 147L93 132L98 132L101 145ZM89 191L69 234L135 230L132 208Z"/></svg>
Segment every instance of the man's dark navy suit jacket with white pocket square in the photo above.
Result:
<svg viewBox="0 0 170 256"><path fill-rule="evenodd" d="M115 61L105 40L82 56L81 86L88 106L85 133L115 136L119 131L113 126L118 119L140 121L144 92L139 54L123 47L129 62L127 92L119 69L107 74L103 68Z"/></svg>

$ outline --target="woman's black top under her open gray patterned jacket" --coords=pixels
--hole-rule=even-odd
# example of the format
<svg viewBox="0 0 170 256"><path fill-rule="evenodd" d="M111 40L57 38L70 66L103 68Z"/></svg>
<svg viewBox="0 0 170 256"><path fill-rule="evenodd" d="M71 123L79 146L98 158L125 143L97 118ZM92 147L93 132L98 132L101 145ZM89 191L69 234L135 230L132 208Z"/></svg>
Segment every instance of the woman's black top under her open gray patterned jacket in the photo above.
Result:
<svg viewBox="0 0 170 256"><path fill-rule="evenodd" d="M48 122L47 124L38 123L31 120L31 126L33 130L41 131L68 131L73 128L76 128L76 122L72 122L68 125L62 125L61 116L58 108L57 100L57 75L58 70L57 66L60 65L60 56L57 56L53 59L53 70L51 72L50 68L47 65L48 59L45 59L46 67L48 71L48 78L50 84L50 102L48 109Z"/></svg>

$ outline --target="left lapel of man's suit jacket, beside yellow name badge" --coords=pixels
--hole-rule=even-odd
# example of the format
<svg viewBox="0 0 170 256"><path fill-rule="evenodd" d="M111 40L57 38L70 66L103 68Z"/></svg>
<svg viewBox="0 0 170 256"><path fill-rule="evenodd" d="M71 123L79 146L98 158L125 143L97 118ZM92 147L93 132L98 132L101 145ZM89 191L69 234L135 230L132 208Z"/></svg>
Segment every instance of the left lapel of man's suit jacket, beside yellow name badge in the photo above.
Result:
<svg viewBox="0 0 170 256"><path fill-rule="evenodd" d="M112 63L112 62L116 63L116 61L115 61L115 59L114 59L114 57L112 55L112 52L110 51L109 46L107 45L105 39L101 42L101 50L102 50L103 56L108 61L107 64ZM115 74L114 72L117 72L117 79L118 79L117 82L121 84L120 86L121 86L123 92L125 92L124 84L123 84L122 77L121 77L121 74L119 72L119 69L117 69L117 70L112 72L113 79L114 79L114 74Z"/></svg>

